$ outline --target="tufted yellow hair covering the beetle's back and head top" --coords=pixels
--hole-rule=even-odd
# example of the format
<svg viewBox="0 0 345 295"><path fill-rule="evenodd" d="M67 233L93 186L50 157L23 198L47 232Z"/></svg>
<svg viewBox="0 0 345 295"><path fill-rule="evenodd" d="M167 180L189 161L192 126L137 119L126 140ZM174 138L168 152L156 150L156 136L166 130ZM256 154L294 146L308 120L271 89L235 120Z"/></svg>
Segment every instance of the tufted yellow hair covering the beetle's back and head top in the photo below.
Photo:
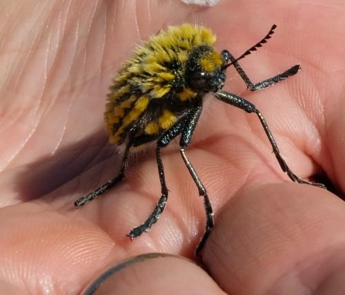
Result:
<svg viewBox="0 0 345 295"><path fill-rule="evenodd" d="M181 116L174 103L183 104L197 96L186 79L188 59L198 59L195 63L204 72L224 63L213 50L215 39L208 28L186 23L159 32L137 48L110 87L104 115L110 142L121 144L134 126L140 126L142 134L168 130ZM207 50L191 57L197 48Z"/></svg>

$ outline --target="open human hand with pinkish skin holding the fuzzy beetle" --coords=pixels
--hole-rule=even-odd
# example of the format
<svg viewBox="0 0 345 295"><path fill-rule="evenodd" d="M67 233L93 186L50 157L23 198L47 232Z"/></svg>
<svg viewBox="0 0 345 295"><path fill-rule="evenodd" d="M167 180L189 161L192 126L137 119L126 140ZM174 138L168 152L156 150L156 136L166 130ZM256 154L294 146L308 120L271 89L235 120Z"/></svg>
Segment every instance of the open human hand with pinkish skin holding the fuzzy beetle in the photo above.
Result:
<svg viewBox="0 0 345 295"><path fill-rule="evenodd" d="M324 3L3 1L0 293L79 294L119 261L164 252L176 256L148 258L111 276L112 294L340 294L345 5ZM161 152L170 194L148 234L132 242L126 236L159 198L153 146L132 156L116 188L79 210L72 205L119 168L119 149L103 131L111 77L135 44L185 22L212 28L217 50L235 57L277 24L273 38L240 64L253 82L296 63L302 72L250 93L230 67L224 90L262 111L293 172L304 179L326 172L337 190L289 182L257 117L209 96L186 149L215 212L202 258L194 250L204 208L177 143Z"/></svg>

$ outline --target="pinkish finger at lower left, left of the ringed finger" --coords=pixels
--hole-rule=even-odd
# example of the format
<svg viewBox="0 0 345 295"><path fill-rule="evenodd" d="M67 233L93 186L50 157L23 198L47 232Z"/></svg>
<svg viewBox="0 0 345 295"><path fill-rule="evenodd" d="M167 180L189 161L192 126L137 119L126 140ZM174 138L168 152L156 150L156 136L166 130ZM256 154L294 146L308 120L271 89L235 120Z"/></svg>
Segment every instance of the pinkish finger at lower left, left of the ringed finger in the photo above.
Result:
<svg viewBox="0 0 345 295"><path fill-rule="evenodd" d="M26 290L16 294L75 294L114 253L97 225L42 205L1 208L0 224L0 285Z"/></svg>

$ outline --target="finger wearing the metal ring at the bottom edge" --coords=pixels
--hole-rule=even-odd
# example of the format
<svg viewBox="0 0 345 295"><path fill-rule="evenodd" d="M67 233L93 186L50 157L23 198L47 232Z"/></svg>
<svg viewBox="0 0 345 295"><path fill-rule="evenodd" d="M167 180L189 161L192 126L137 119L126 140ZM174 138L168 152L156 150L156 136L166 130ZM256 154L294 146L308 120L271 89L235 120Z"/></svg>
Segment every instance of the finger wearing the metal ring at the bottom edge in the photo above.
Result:
<svg viewBox="0 0 345 295"><path fill-rule="evenodd" d="M210 276L186 258L144 254L101 274L88 294L225 294Z"/></svg>

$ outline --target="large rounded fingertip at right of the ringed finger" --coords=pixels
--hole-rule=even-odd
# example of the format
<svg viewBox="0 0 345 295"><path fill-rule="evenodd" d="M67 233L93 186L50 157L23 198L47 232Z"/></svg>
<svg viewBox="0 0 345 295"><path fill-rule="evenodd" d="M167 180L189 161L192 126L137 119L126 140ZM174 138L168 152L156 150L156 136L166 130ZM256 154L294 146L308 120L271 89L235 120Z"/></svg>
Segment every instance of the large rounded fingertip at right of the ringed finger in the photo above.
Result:
<svg viewBox="0 0 345 295"><path fill-rule="evenodd" d="M344 290L344 223L344 202L326 190L252 188L216 219L204 262L230 294L306 294L330 282Z"/></svg>

